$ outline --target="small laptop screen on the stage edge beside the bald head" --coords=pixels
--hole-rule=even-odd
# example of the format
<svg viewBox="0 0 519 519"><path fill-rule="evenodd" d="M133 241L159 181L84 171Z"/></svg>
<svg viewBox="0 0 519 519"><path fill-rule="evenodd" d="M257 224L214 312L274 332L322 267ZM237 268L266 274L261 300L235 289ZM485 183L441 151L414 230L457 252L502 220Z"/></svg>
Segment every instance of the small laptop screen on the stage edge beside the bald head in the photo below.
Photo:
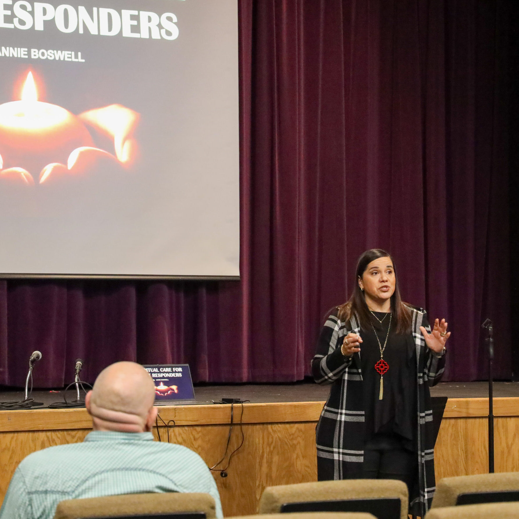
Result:
<svg viewBox="0 0 519 519"><path fill-rule="evenodd" d="M143 367L155 382L157 404L195 399L188 364L146 364Z"/></svg>

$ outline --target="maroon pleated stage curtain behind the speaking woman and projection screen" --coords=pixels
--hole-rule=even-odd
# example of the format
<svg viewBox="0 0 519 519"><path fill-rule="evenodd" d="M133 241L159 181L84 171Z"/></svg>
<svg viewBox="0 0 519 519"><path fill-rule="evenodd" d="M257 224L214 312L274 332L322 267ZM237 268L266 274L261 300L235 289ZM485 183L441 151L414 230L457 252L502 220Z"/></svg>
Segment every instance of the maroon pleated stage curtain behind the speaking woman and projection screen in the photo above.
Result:
<svg viewBox="0 0 519 519"><path fill-rule="evenodd" d="M241 282L1 281L0 383L117 360L195 380L310 370L357 257L453 332L444 380L511 376L504 1L240 0ZM2 222L1 225L8 225Z"/></svg>

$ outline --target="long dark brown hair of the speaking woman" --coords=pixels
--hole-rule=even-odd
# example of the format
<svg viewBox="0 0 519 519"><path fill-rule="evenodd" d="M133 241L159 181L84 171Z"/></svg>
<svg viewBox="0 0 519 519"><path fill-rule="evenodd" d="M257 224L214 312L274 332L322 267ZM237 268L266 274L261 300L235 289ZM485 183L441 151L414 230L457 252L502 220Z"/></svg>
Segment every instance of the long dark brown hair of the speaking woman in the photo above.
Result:
<svg viewBox="0 0 519 519"><path fill-rule="evenodd" d="M391 315L393 316L393 322L396 325L396 332L398 334L406 334L411 332L410 305L402 302L400 290L398 288L397 269L394 266L393 258L382 249L370 249L360 256L359 261L357 262L353 293L346 303L338 307L338 317L341 321L347 322L352 316L355 316L363 330L369 329L372 320L371 312L366 305L364 293L360 289L359 278L362 279L362 275L372 261L386 256L389 257L393 263L393 271L395 275L394 293L391 296Z"/></svg>

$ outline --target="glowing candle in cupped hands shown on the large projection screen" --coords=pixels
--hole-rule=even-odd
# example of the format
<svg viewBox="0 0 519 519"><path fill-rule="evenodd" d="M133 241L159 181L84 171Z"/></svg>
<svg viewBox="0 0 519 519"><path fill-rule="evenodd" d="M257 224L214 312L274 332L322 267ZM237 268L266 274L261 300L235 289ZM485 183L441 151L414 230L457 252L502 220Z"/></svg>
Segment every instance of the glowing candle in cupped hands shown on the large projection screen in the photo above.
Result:
<svg viewBox="0 0 519 519"><path fill-rule="evenodd" d="M100 165L128 169L137 154L138 122L139 114L120 104L75 115L40 101L29 71L19 100L0 104L0 181L33 186ZM98 146L97 136L110 139L113 149Z"/></svg>

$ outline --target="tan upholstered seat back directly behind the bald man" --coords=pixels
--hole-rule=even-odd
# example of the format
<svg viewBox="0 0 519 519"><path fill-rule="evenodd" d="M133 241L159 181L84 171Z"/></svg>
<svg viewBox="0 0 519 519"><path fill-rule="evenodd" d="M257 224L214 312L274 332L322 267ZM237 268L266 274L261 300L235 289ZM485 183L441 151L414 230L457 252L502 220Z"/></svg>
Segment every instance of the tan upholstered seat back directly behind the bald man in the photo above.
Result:
<svg viewBox="0 0 519 519"><path fill-rule="evenodd" d="M58 503L54 519L89 519L90 517L153 516L177 513L202 513L216 517L216 505L209 494L168 492L164 494L125 494L121 496L68 499ZM202 519L203 515L199 516ZM184 519L188 519L184 516ZM192 517L195 519L195 516Z"/></svg>

